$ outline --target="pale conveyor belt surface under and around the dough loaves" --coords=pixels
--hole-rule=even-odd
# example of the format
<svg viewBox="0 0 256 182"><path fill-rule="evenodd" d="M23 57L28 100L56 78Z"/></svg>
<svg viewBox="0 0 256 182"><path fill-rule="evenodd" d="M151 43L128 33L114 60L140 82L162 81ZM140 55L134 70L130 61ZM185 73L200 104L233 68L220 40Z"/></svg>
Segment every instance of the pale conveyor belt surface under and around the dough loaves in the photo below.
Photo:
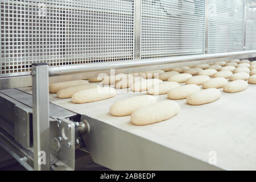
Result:
<svg viewBox="0 0 256 182"><path fill-rule="evenodd" d="M30 92L30 88L22 90ZM109 114L109 107L114 102L146 94L120 91L114 98L87 104L73 104L70 98L59 99L56 94L50 94L49 99L65 109L88 115L203 162L208 163L210 155L216 154L215 166L218 168L256 169L256 85L249 84L243 92L222 92L219 100L200 106L177 100L181 107L179 114L147 126L131 124L130 116ZM167 94L158 96L158 101L167 99Z"/></svg>

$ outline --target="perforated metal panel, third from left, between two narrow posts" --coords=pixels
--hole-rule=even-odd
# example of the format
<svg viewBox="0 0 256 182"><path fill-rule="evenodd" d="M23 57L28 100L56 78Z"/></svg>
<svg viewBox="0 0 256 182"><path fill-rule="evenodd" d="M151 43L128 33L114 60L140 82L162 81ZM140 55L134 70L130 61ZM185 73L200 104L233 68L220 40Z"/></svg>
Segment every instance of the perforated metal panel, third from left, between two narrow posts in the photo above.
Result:
<svg viewBox="0 0 256 182"><path fill-rule="evenodd" d="M243 51L243 0L209 0L208 53Z"/></svg>

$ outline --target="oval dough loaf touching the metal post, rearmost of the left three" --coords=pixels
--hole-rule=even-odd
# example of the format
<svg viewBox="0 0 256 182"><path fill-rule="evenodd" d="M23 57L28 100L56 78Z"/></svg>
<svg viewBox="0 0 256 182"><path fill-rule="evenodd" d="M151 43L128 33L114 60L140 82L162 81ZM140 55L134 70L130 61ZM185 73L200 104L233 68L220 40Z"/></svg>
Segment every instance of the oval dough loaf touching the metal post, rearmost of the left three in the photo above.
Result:
<svg viewBox="0 0 256 182"><path fill-rule="evenodd" d="M75 85L88 85L89 82L86 80L73 80L73 81L64 81L64 82L57 82L49 84L49 92L50 93L57 93L59 89L63 89L69 86Z"/></svg>

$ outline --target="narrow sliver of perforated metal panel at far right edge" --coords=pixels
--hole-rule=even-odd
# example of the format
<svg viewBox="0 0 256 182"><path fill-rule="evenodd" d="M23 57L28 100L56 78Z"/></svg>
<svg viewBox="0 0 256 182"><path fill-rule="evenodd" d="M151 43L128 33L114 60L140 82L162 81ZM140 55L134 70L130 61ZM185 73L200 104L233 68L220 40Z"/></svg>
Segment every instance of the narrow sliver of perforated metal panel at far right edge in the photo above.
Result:
<svg viewBox="0 0 256 182"><path fill-rule="evenodd" d="M256 1L246 0L246 50L256 49Z"/></svg>

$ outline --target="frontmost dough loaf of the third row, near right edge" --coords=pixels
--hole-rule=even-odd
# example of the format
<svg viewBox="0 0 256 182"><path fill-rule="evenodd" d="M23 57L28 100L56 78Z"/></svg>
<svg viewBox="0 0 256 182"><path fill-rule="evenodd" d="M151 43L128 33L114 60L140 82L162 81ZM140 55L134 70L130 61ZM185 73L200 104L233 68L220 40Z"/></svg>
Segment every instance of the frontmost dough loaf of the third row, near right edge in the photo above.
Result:
<svg viewBox="0 0 256 182"><path fill-rule="evenodd" d="M248 84L245 80L235 80L223 86L223 91L228 93L241 92L247 89Z"/></svg>

